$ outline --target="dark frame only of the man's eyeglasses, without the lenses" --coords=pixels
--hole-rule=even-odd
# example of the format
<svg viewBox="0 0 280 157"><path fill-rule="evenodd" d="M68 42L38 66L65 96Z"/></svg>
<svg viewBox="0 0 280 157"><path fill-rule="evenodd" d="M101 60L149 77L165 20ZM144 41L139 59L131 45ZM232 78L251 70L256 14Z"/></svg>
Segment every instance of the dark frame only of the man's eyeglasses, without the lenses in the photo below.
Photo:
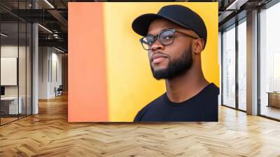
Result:
<svg viewBox="0 0 280 157"><path fill-rule="evenodd" d="M162 43L162 41L160 40L159 36L160 36L163 32L166 32L166 31L172 31L172 32L173 32L173 36L174 36L174 34L177 32L177 33L180 33L180 34L184 34L185 36L188 36L188 37L190 37L190 38L192 38L192 39L200 39L200 38L197 38L197 37L192 36L192 35L190 35L190 34L186 34L185 32L180 31L179 29L169 28L169 29L163 29L162 32L160 32L160 34L157 34L157 35L155 35L155 36L153 36L153 35L150 34L151 36L153 36L153 39L154 39L154 42L153 42L153 43L155 43L157 40L160 41L160 43L161 43L163 46L169 46L169 45L171 45L172 43L174 43L175 37L174 37L172 43L169 43L169 44L163 44L163 43ZM146 49L146 48L144 47L144 45L143 45L143 44L145 44L145 43L143 42L143 39L146 38L146 37L147 37L147 36L143 36L141 39L139 39L139 41L140 41L140 43L141 43L141 46L144 48L144 50L152 50L152 48ZM151 43L151 44L153 45L153 43ZM147 44L147 45L148 45L148 44Z"/></svg>

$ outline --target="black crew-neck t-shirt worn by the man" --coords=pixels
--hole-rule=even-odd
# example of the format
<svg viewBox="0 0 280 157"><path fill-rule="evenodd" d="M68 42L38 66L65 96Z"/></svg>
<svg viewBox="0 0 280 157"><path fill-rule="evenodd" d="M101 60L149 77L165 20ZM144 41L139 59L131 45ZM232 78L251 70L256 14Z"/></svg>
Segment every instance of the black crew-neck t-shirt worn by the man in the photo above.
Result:
<svg viewBox="0 0 280 157"><path fill-rule="evenodd" d="M164 93L146 105L134 118L137 121L218 121L219 89L210 83L184 102L172 102Z"/></svg>

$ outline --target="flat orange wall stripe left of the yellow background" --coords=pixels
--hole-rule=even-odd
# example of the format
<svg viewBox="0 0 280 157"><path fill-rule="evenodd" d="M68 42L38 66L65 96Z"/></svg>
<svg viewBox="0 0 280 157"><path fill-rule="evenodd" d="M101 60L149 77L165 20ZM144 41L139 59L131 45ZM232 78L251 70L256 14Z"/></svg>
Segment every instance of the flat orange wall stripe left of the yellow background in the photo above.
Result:
<svg viewBox="0 0 280 157"><path fill-rule="evenodd" d="M103 4L69 3L68 13L68 121L109 121Z"/></svg>

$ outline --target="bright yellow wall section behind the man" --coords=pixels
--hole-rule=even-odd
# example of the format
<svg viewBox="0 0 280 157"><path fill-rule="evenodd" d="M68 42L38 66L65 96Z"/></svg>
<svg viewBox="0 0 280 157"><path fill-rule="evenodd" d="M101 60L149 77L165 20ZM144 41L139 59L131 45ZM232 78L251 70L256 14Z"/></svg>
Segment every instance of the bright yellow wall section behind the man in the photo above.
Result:
<svg viewBox="0 0 280 157"><path fill-rule="evenodd" d="M141 36L132 21L144 13L157 13L162 6L180 4L200 14L207 25L207 46L202 52L202 69L207 80L219 86L218 3L106 3L104 25L109 95L109 121L133 121L137 112L165 93L165 82L151 73Z"/></svg>

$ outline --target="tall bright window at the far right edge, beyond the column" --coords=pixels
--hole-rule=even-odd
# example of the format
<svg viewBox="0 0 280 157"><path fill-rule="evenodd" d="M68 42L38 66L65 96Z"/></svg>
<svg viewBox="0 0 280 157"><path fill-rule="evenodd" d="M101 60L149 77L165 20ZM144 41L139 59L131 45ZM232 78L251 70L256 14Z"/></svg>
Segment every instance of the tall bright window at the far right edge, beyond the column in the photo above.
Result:
<svg viewBox="0 0 280 157"><path fill-rule="evenodd" d="M260 12L260 114L280 119L280 3Z"/></svg>

